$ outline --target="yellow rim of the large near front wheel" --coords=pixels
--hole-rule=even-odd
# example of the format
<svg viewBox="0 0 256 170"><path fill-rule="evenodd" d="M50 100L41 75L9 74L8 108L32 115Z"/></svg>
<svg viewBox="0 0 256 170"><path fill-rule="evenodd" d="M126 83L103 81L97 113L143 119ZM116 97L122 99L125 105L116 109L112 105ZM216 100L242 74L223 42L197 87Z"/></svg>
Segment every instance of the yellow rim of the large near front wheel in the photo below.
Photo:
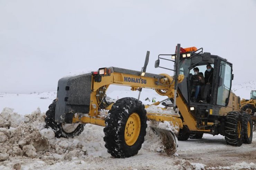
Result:
<svg viewBox="0 0 256 170"><path fill-rule="evenodd" d="M140 117L138 113L132 113L125 126L125 142L132 146L138 139L140 133Z"/></svg>

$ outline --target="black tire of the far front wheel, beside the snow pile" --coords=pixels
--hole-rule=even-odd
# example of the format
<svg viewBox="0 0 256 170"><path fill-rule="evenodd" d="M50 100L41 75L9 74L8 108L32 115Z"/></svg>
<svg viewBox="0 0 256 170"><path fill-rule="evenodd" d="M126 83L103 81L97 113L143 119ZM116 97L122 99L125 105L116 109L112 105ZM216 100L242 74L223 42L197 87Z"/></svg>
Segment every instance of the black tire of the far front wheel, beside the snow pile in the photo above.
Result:
<svg viewBox="0 0 256 170"><path fill-rule="evenodd" d="M49 110L46 111L45 128L52 128L56 138L73 138L81 134L84 130L84 124L79 124L72 132L66 132L63 129L62 123L55 122L55 107L56 100L53 100L53 103L49 106Z"/></svg>

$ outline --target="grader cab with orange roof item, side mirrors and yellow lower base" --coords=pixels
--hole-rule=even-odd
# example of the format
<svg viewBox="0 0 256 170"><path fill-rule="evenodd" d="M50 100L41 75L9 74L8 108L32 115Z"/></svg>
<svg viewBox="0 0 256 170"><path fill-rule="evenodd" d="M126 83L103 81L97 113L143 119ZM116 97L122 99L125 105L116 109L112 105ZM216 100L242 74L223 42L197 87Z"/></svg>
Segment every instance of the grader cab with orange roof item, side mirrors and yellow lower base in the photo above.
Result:
<svg viewBox="0 0 256 170"><path fill-rule="evenodd" d="M172 60L164 58L166 56L171 56ZM177 63L176 53L159 54L155 62L156 68L172 70L160 67L159 59ZM232 64L226 59L203 52L202 48L181 48L177 72L184 75L184 80L178 84L178 91L197 119L198 128L207 126L207 121L214 122L214 116L225 116L229 110L234 110L234 107L228 106L234 75Z"/></svg>

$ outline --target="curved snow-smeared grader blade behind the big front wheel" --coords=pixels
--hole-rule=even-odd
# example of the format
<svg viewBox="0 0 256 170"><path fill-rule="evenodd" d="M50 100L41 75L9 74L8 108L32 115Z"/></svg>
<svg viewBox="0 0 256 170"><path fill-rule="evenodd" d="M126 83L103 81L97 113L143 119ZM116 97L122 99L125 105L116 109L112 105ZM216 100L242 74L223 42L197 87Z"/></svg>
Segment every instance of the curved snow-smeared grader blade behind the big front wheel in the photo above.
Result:
<svg viewBox="0 0 256 170"><path fill-rule="evenodd" d="M175 133L171 130L165 130L160 128L151 127L156 134L161 138L167 155L172 155L176 152L178 147L178 139Z"/></svg>

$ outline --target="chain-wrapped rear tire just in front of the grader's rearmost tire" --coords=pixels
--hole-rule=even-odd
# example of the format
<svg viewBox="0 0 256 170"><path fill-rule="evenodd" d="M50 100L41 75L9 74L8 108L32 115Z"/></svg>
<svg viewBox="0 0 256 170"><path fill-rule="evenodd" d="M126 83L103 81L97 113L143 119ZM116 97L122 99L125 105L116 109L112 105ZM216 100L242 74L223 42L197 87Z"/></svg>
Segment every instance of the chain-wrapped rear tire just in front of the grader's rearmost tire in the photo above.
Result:
<svg viewBox="0 0 256 170"><path fill-rule="evenodd" d="M243 118L240 112L231 111L226 116L225 140L227 144L241 146L244 140Z"/></svg>

